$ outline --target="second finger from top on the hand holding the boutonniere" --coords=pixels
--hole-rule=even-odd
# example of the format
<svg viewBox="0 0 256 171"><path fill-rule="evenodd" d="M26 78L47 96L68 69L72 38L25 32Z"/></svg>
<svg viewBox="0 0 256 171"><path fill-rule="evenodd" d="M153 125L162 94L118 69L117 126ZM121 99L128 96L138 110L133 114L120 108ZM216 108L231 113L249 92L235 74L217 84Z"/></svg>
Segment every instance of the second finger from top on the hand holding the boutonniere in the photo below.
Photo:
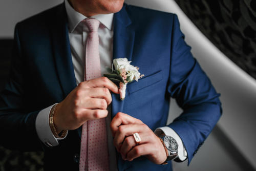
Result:
<svg viewBox="0 0 256 171"><path fill-rule="evenodd" d="M108 105L112 101L111 93L108 88L93 88L89 89L88 93L91 98L104 98Z"/></svg>

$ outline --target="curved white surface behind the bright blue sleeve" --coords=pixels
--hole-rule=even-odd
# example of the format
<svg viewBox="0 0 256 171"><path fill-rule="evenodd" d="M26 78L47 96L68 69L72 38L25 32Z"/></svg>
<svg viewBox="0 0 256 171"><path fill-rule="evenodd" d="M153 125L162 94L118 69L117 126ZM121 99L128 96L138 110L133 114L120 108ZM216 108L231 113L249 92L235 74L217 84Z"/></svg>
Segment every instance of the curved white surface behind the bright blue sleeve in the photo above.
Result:
<svg viewBox="0 0 256 171"><path fill-rule="evenodd" d="M192 53L221 93L223 116L219 126L256 168L256 80L235 65L197 29L173 0L130 0L128 4L178 15ZM175 111L172 111L173 113Z"/></svg>

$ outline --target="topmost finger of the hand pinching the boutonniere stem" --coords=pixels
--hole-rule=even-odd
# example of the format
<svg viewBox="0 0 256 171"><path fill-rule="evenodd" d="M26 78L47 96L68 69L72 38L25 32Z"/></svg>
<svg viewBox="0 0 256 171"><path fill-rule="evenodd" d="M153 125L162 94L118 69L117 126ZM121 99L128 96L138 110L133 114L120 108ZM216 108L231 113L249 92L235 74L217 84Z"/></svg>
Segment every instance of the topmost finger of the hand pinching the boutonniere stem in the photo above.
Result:
<svg viewBox="0 0 256 171"><path fill-rule="evenodd" d="M81 83L81 86L90 87L90 88L105 87L105 88L108 88L110 91L116 94L119 94L118 87L116 86L116 84L106 77L100 77L100 78L84 81Z"/></svg>

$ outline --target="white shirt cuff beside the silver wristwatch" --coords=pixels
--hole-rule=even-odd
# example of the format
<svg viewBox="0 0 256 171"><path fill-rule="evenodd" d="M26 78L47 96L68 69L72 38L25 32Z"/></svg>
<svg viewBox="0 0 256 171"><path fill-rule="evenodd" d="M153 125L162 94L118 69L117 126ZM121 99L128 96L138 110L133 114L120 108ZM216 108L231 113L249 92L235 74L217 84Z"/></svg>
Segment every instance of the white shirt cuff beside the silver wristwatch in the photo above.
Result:
<svg viewBox="0 0 256 171"><path fill-rule="evenodd" d="M178 143L178 158L181 161L186 160L187 152L186 152L186 149L185 149L185 147L182 143L182 140L181 140L180 136L173 129L171 129L168 126L158 127L155 130L155 134L157 136L160 136L162 133L164 133L165 135L171 136L176 140L176 142Z"/></svg>

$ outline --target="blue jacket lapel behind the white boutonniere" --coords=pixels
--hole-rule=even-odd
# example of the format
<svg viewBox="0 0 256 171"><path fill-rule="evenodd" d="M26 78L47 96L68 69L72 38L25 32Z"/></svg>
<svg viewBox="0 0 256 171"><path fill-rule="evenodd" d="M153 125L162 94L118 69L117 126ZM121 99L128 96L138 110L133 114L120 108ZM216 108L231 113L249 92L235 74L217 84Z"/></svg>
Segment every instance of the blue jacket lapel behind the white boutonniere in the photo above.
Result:
<svg viewBox="0 0 256 171"><path fill-rule="evenodd" d="M127 58L132 60L135 31L132 29L132 21L126 12L125 4L123 8L114 14L114 37L113 37L113 59ZM112 93L112 118L123 111L123 101L119 94Z"/></svg>

